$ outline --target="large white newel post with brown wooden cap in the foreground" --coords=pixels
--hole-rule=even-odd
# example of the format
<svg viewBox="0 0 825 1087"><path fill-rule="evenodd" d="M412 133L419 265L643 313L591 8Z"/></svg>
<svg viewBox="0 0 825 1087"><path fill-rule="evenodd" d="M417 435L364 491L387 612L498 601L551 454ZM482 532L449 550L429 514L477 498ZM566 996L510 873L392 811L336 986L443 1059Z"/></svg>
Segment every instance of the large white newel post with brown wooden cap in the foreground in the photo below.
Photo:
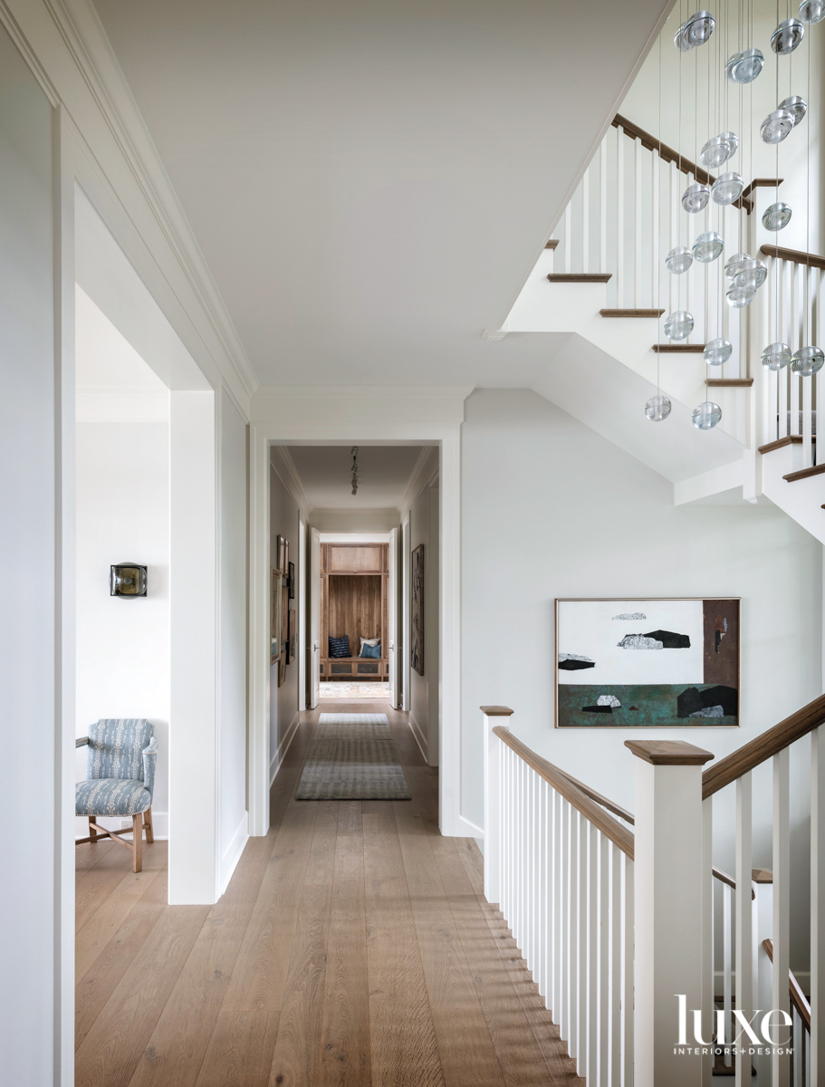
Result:
<svg viewBox="0 0 825 1087"><path fill-rule="evenodd" d="M702 1008L704 948L702 766L713 755L680 740L625 746L639 760L634 1087L700 1087L693 1011ZM698 1019L699 1037L710 1046L711 1017Z"/></svg>

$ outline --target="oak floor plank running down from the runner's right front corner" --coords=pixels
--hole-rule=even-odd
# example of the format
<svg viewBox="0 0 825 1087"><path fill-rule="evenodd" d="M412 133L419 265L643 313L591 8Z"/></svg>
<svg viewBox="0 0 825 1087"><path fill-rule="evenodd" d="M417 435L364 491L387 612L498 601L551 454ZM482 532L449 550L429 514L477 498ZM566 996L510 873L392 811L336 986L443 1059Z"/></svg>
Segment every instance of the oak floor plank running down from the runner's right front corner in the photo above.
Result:
<svg viewBox="0 0 825 1087"><path fill-rule="evenodd" d="M392 805L362 812L373 1085L443 1087Z"/></svg>

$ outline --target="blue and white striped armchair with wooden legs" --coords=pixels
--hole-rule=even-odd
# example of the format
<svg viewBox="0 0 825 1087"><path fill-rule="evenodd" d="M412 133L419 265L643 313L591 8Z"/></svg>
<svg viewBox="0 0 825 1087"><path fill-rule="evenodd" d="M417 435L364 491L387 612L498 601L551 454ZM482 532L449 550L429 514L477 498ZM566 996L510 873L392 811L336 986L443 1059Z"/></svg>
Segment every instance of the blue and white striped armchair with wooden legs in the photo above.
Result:
<svg viewBox="0 0 825 1087"><path fill-rule="evenodd" d="M75 741L75 747L88 747L86 780L75 787L75 814L89 819L88 838L98 841L111 838L132 851L133 869L143 867L143 830L147 845L152 834L152 791L158 740L154 727L142 717L103 717L89 728L89 735ZM96 819L132 817L132 827L105 830ZM132 834L132 841L120 835Z"/></svg>

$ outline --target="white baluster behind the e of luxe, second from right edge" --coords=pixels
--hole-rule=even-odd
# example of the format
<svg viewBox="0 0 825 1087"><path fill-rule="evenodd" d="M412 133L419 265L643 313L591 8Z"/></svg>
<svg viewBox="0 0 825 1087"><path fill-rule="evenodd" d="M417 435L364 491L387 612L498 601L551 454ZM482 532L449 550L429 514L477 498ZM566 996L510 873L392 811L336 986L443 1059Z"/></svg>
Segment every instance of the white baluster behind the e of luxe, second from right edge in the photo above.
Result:
<svg viewBox="0 0 825 1087"><path fill-rule="evenodd" d="M774 973L771 1022L776 1024L790 1010L788 971L790 970L790 749L774 755ZM784 1042L788 1037L786 1026L774 1026L774 1039L785 1049L774 1051L771 1058L773 1087L789 1087L790 1059Z"/></svg>

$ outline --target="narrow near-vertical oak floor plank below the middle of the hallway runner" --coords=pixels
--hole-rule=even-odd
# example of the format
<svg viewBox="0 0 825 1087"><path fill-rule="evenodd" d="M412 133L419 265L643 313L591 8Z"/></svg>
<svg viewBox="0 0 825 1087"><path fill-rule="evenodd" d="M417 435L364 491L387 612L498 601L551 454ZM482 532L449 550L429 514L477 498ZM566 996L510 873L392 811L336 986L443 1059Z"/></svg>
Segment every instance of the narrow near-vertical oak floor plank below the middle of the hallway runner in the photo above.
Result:
<svg viewBox="0 0 825 1087"><path fill-rule="evenodd" d="M341 800L324 980L317 1087L371 1087L361 801Z"/></svg>

